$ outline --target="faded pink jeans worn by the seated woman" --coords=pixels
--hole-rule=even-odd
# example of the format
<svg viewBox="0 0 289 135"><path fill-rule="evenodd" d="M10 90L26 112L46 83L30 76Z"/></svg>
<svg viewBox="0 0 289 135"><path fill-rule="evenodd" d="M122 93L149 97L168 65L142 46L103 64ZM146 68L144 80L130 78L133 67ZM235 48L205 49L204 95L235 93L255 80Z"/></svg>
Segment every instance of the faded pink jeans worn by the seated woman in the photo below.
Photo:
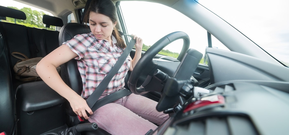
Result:
<svg viewBox="0 0 289 135"><path fill-rule="evenodd" d="M130 94L100 107L88 121L112 135L144 135L157 128L153 123L160 125L169 117L155 109L157 104L144 96Z"/></svg>

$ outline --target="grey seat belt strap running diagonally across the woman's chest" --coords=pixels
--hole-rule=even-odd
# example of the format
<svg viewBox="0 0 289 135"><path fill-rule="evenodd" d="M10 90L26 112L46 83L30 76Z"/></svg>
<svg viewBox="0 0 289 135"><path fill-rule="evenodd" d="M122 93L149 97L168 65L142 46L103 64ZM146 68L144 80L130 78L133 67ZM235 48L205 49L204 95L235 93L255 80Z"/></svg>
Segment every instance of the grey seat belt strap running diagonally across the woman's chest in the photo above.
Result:
<svg viewBox="0 0 289 135"><path fill-rule="evenodd" d="M131 35L128 35L131 36ZM117 62L114 64L108 75L104 77L104 79L99 83L98 87L95 89L94 92L87 98L86 103L88 107L92 108L93 105L97 102L98 98L103 94L105 89L108 86L108 83L111 81L112 77L118 72L118 70L121 68L123 65L123 62L129 55L131 49L134 47L134 44L136 43L136 40L131 38L129 41L129 44L121 54L121 56L118 58Z"/></svg>

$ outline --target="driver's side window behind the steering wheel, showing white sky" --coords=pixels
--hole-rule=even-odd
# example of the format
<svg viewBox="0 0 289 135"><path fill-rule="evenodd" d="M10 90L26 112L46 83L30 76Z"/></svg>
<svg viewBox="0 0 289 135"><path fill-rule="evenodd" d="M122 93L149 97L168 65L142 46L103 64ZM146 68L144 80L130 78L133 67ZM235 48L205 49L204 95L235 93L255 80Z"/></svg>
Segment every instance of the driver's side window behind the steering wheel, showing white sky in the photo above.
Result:
<svg viewBox="0 0 289 135"><path fill-rule="evenodd" d="M190 37L190 48L205 54L205 48L208 47L207 31L175 9L146 1L121 1L120 8L127 33L136 34L144 40L143 51L165 35L183 31ZM212 36L212 45L219 43ZM159 54L177 58L182 45L183 40L179 39L166 46Z"/></svg>

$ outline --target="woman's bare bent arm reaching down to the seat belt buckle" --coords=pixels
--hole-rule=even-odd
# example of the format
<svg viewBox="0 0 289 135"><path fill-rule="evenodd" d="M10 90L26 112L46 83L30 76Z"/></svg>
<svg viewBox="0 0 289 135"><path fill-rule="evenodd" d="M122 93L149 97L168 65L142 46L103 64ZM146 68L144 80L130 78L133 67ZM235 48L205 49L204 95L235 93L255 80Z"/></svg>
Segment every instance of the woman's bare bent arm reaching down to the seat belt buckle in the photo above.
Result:
<svg viewBox="0 0 289 135"><path fill-rule="evenodd" d="M36 71L40 78L50 88L68 100L73 111L77 115L88 119L85 110L89 114L92 114L92 111L88 107L86 101L64 83L56 70L56 67L68 62L76 56L77 54L67 45L62 45L42 58L36 66Z"/></svg>

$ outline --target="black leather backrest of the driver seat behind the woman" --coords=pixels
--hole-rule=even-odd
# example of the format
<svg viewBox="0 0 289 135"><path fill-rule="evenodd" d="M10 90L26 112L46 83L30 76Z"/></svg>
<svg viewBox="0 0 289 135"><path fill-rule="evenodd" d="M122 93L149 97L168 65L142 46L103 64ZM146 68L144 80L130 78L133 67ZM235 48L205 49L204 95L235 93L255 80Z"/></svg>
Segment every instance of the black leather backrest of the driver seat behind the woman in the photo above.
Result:
<svg viewBox="0 0 289 135"><path fill-rule="evenodd" d="M75 35L90 33L89 26L79 23L68 23L62 26L59 34L59 45L72 39ZM83 84L80 73L77 68L77 62L72 59L65 64L61 65L61 78L62 80L77 94L81 95ZM75 116L69 103L66 105L66 114L69 116ZM68 122L69 123L69 122Z"/></svg>

